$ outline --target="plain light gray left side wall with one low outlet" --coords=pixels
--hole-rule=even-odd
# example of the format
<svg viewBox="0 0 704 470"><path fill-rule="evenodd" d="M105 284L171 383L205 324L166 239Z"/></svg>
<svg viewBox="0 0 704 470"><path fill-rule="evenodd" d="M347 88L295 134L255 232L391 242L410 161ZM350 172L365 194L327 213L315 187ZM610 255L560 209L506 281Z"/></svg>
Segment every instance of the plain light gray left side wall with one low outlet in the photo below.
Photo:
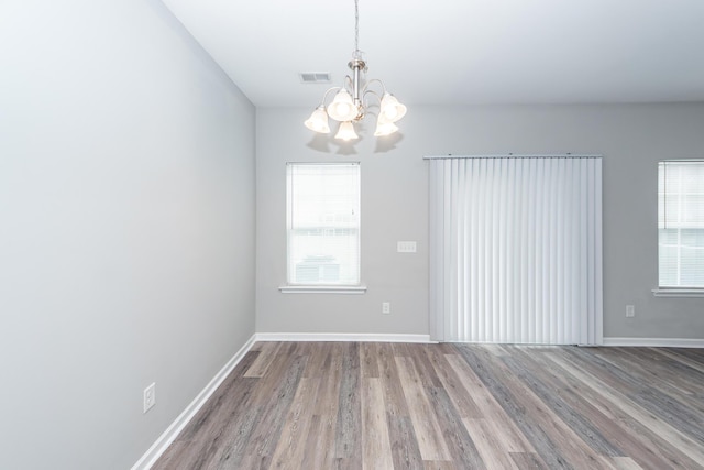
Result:
<svg viewBox="0 0 704 470"><path fill-rule="evenodd" d="M124 470L254 332L254 107L156 0L0 57L0 468Z"/></svg>

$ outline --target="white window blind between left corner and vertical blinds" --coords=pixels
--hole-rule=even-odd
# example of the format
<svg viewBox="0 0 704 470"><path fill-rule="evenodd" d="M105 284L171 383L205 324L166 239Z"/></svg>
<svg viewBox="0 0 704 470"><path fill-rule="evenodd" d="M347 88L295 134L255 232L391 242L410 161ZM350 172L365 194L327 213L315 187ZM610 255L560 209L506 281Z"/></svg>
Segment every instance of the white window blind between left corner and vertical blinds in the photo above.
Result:
<svg viewBox="0 0 704 470"><path fill-rule="evenodd" d="M360 284L360 164L289 163L288 284Z"/></svg>

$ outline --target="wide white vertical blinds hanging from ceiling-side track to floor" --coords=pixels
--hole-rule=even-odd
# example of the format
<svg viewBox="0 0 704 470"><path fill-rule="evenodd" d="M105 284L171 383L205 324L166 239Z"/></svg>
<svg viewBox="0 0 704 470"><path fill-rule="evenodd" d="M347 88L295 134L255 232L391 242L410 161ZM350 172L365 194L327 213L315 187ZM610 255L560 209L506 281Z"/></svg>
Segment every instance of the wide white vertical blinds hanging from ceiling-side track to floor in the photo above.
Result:
<svg viewBox="0 0 704 470"><path fill-rule="evenodd" d="M429 160L433 339L602 343L601 157Z"/></svg>

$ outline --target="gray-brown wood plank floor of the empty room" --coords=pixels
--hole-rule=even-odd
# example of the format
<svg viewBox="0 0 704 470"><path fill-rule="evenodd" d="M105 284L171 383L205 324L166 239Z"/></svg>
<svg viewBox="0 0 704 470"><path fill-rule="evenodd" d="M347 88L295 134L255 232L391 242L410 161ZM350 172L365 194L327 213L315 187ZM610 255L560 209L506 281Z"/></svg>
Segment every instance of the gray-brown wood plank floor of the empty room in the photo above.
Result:
<svg viewBox="0 0 704 470"><path fill-rule="evenodd" d="M704 350L260 342L153 467L704 469Z"/></svg>

